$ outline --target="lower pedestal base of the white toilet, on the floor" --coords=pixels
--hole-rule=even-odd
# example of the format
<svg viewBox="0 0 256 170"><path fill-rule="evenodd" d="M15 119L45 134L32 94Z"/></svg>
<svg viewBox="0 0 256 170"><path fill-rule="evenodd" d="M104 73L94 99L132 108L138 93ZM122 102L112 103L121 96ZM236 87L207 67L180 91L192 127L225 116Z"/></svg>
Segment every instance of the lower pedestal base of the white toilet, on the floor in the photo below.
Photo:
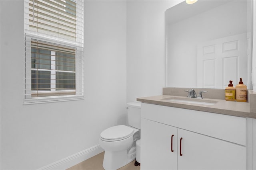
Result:
<svg viewBox="0 0 256 170"><path fill-rule="evenodd" d="M105 150L103 159L103 168L105 170L117 170L122 166L132 162L136 157L136 152L127 154L127 150L110 152Z"/></svg>

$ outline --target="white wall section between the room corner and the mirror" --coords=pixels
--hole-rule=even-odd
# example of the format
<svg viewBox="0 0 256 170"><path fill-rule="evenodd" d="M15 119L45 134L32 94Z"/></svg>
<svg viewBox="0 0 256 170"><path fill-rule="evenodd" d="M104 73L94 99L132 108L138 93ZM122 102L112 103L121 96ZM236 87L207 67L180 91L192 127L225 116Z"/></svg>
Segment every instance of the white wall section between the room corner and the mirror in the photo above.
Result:
<svg viewBox="0 0 256 170"><path fill-rule="evenodd" d="M165 11L178 0L127 1L127 102L165 87Z"/></svg>

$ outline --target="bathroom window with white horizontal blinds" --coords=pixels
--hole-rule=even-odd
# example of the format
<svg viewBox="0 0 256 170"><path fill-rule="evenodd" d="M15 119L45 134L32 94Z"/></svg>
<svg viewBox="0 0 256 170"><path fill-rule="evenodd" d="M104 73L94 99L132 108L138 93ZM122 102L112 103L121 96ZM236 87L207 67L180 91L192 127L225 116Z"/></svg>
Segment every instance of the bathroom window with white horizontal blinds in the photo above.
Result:
<svg viewBox="0 0 256 170"><path fill-rule="evenodd" d="M84 98L84 2L25 0L24 103Z"/></svg>

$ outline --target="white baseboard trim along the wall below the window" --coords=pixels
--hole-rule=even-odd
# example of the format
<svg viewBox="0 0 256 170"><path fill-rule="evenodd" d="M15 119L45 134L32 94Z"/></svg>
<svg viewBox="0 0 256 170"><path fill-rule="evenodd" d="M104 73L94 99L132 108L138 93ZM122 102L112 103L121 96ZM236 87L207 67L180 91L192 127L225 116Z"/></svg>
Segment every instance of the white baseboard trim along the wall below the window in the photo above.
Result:
<svg viewBox="0 0 256 170"><path fill-rule="evenodd" d="M100 147L100 145L95 145L94 147L90 147L88 149L82 150L76 154L68 156L64 159L58 160L52 164L46 165L38 170L66 170L96 154L103 152L104 150Z"/></svg>

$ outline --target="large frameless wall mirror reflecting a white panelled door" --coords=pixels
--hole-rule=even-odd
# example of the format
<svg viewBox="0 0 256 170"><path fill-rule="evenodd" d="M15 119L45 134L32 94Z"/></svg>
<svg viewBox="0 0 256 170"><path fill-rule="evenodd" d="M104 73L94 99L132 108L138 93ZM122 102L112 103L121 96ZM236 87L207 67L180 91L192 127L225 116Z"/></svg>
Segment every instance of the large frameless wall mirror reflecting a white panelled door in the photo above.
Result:
<svg viewBox="0 0 256 170"><path fill-rule="evenodd" d="M166 10L166 87L251 83L252 0L198 0Z"/></svg>

